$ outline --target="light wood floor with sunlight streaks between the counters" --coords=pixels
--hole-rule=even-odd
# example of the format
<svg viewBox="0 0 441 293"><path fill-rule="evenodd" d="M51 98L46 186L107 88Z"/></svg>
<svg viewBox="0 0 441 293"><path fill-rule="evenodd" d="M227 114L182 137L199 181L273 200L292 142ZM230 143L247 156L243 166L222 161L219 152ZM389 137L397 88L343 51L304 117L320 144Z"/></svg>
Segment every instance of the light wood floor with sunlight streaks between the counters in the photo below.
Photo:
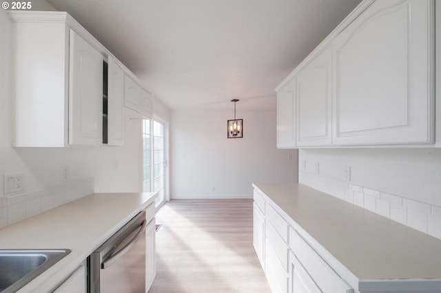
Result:
<svg viewBox="0 0 441 293"><path fill-rule="evenodd" d="M156 213L149 293L269 293L252 243L252 199L172 200Z"/></svg>

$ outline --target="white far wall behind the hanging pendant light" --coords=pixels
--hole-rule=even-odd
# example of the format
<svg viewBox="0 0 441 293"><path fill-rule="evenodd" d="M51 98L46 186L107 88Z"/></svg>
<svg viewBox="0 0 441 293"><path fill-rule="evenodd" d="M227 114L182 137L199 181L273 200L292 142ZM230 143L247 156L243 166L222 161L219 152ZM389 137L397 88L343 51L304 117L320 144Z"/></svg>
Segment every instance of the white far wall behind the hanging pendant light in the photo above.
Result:
<svg viewBox="0 0 441 293"><path fill-rule="evenodd" d="M252 197L253 182L297 181L297 150L276 148L275 107L240 106L244 133L236 139L227 138L232 109L172 112L172 198Z"/></svg>

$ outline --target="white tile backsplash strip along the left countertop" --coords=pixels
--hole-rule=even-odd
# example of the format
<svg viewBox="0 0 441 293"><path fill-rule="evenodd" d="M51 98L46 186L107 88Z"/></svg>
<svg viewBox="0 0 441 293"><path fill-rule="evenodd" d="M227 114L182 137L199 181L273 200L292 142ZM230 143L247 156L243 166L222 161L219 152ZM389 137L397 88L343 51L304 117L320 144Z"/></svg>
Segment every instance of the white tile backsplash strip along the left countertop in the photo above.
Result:
<svg viewBox="0 0 441 293"><path fill-rule="evenodd" d="M87 178L0 198L0 228L94 193Z"/></svg>

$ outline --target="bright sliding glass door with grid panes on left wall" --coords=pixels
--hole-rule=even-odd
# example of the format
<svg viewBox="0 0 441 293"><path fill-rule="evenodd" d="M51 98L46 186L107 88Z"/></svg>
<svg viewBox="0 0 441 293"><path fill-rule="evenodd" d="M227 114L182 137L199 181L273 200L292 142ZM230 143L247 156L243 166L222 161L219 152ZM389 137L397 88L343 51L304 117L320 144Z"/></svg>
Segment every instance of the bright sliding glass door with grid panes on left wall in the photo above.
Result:
<svg viewBox="0 0 441 293"><path fill-rule="evenodd" d="M143 120L143 191L158 193L156 206L165 201L165 126Z"/></svg>

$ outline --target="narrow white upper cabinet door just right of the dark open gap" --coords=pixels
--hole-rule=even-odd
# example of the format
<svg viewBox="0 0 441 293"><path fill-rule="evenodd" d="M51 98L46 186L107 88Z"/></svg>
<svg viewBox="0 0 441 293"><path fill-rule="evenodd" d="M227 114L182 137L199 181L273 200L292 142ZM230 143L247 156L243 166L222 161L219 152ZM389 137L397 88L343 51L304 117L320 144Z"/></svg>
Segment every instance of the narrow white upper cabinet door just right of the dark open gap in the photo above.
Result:
<svg viewBox="0 0 441 293"><path fill-rule="evenodd" d="M109 56L108 62L107 144L123 145L124 73Z"/></svg>

